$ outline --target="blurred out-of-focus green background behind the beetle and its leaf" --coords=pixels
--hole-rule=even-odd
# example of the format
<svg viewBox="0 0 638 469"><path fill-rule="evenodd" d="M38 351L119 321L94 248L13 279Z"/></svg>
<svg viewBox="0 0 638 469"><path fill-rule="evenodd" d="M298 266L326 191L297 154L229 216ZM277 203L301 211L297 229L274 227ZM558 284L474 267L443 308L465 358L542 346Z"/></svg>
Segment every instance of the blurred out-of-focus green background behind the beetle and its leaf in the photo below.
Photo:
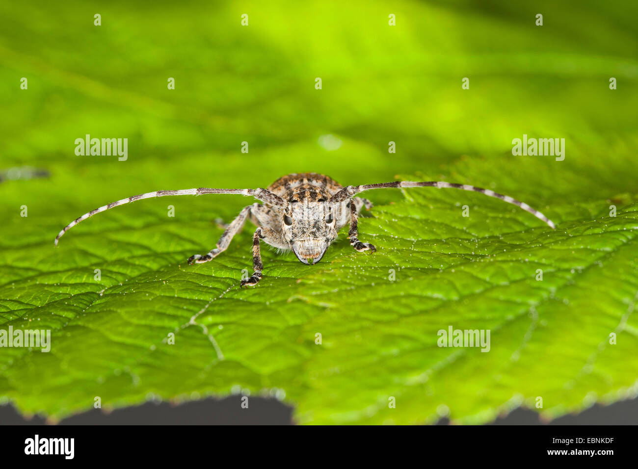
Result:
<svg viewBox="0 0 638 469"><path fill-rule="evenodd" d="M163 245L170 255L141 260L146 267L207 251L221 232L212 220L230 220L245 199L146 200L85 221L58 251L52 242L80 214L123 197L266 187L290 172L341 184L397 174L464 182L528 202L559 225L593 220L637 193L636 17L635 1L595 0L4 2L0 170L50 176L0 182L1 283L6 291L40 272L75 275L61 259L82 264L88 240L117 265L126 249L140 255L158 241L124 232L138 227L168 226L175 237ZM75 139L87 133L128 138L128 160L77 156ZM512 156L523 134L565 138L565 160ZM334 149L322 145L326 135ZM167 204L175 218L166 218ZM249 237L237 237L228 255L247 258ZM137 264L132 272L144 270ZM8 320L29 293L3 301Z"/></svg>

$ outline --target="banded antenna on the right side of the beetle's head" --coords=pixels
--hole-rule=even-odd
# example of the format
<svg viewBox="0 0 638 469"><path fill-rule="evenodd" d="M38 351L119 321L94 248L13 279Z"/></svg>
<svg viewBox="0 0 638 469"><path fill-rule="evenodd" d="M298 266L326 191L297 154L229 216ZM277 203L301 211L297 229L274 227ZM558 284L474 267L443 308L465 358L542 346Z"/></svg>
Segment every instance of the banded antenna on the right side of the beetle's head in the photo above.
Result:
<svg viewBox="0 0 638 469"><path fill-rule="evenodd" d="M485 195L489 195L489 197L496 197L508 202L508 204L514 204L518 207L521 207L524 211L530 212L533 216L538 218L539 220L544 221L551 228L556 228L554 222L549 220L544 214L539 212L536 209L530 207L530 205L525 202L521 202L512 198L508 195L503 195L491 191L489 189L482 189L475 186L469 186L468 184L451 184L450 182L443 181L393 181L393 182L381 182L379 184L363 184L362 186L347 186L337 193L335 193L332 197L330 197L330 202L343 202L344 200L348 200L353 195L358 194L363 191L371 190L371 189L384 189L384 188L408 188L408 187L435 187L435 188L449 188L449 189L463 189L464 191L475 191L480 192Z"/></svg>

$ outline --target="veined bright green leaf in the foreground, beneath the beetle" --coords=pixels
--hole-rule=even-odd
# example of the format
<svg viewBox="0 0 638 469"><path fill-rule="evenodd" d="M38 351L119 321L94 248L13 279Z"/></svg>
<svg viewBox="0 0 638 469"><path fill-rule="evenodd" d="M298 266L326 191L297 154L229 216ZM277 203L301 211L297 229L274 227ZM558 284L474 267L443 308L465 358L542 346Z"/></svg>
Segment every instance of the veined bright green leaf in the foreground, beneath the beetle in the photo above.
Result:
<svg viewBox="0 0 638 469"><path fill-rule="evenodd" d="M635 392L637 204L554 232L474 193L405 195L361 219L374 255L345 239L310 267L265 251L251 289L239 288L249 232L188 266L221 228L131 218L150 204L119 209L124 228L86 222L55 251L50 239L6 246L3 327L52 329L52 349L3 350L0 394L54 419L94 396L108 407L242 389L286 396L300 422L432 422L445 405L475 423L537 396L553 417ZM450 325L489 329L489 352L437 346Z"/></svg>

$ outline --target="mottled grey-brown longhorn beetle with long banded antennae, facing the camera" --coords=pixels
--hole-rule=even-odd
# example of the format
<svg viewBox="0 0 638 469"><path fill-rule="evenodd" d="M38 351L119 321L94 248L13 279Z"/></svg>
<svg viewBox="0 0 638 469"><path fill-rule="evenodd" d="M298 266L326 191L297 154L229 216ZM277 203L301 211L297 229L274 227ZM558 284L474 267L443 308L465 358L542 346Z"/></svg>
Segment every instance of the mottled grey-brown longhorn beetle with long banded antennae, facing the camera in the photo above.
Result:
<svg viewBox="0 0 638 469"><path fill-rule="evenodd" d="M142 198L164 197L165 195L203 195L203 194L241 194L255 197L263 204L252 204L244 207L235 220L219 238L217 247L207 254L195 254L188 258L188 264L201 264L214 259L228 248L233 236L241 230L248 218L257 227L253 235L253 267L254 272L249 278L244 278L240 286L256 285L262 278L262 257L259 241L263 239L267 244L279 249L292 249L295 256L304 264L316 264L321 260L330 243L337 237L337 232L350 224L348 237L350 245L359 252L376 251L369 242L359 241L357 232L357 217L361 208L371 209L372 204L365 198L354 197L360 192L382 188L411 188L434 187L454 188L466 191L480 192L489 197L496 197L510 204L518 205L521 209L540 218L551 228L556 228L553 221L541 212L533 209L524 202L519 202L508 195L497 194L489 189L481 189L467 184L450 184L441 181L395 181L380 184L364 184L362 186L343 187L338 182L323 174L302 173L288 174L273 182L267 189L184 189L176 191L156 191L123 198L111 202L99 209L85 213L80 218L71 221L56 236L54 244L71 227L86 220L96 213L107 211L117 205L128 204Z"/></svg>

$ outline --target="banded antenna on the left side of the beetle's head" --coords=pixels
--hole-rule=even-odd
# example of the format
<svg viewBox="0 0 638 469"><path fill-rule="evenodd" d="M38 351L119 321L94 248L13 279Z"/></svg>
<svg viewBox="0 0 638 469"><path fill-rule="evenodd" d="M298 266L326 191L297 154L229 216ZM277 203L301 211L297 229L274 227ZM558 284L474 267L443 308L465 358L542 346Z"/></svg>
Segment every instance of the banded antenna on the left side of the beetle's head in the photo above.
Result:
<svg viewBox="0 0 638 469"><path fill-rule="evenodd" d="M155 192L147 192L145 194L133 195L133 197L122 198L122 200L117 200L117 202L111 202L110 204L103 205L102 207L91 210L88 213L76 218L71 221L66 227L62 228L62 231L59 232L56 236L56 241L53 244L57 246L57 242L62 237L64 233L66 233L71 228L75 227L80 221L84 221L87 218L92 217L96 213L105 212L108 209L112 209L113 207L117 207L118 205L129 204L130 202L135 202L135 200L142 200L142 198L153 198L153 197L165 197L166 195L204 195L204 194L239 194L255 197L257 200L261 200L265 204L272 205L274 207L279 207L285 209L288 207L288 203L283 200L283 198L278 195L273 194L271 191L266 189L211 189L211 188L199 188L199 189L181 189L176 191L155 191Z"/></svg>

